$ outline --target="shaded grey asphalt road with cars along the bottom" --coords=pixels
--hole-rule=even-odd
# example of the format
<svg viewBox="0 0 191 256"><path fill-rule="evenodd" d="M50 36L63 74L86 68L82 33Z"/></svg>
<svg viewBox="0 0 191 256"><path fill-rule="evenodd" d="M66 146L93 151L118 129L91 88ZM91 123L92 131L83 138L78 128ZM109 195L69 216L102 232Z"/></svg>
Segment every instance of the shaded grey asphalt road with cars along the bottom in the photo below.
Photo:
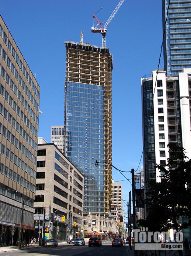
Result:
<svg viewBox="0 0 191 256"><path fill-rule="evenodd" d="M35 247L23 250L15 250L9 252L0 252L0 256L128 256L127 246L111 247L111 241L103 242L100 247L88 247L86 242L85 246L73 246L72 244L60 245L54 248Z"/></svg>

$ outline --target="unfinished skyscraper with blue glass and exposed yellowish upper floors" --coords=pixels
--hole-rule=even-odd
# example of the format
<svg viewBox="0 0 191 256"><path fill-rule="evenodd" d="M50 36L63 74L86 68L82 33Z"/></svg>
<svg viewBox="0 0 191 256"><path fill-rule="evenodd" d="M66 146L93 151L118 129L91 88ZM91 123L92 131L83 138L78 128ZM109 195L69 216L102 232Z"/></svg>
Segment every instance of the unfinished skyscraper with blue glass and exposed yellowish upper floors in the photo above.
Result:
<svg viewBox="0 0 191 256"><path fill-rule="evenodd" d="M84 213L109 214L112 194L111 72L108 47L65 42L64 153L84 174Z"/></svg>

